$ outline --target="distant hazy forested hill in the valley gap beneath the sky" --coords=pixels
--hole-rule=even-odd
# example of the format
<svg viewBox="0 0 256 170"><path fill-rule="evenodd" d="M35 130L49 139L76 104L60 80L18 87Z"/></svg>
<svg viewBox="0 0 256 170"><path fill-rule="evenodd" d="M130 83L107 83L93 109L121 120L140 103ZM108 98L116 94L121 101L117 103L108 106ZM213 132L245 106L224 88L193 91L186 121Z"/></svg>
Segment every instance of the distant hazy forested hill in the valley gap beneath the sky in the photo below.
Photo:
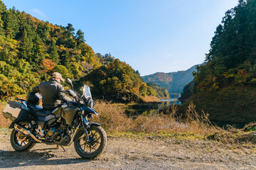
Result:
<svg viewBox="0 0 256 170"><path fill-rule="evenodd" d="M146 82L152 82L159 87L167 89L169 93L181 93L184 86L193 80L193 71L196 71L195 66L186 71L170 73L157 72L142 78Z"/></svg>

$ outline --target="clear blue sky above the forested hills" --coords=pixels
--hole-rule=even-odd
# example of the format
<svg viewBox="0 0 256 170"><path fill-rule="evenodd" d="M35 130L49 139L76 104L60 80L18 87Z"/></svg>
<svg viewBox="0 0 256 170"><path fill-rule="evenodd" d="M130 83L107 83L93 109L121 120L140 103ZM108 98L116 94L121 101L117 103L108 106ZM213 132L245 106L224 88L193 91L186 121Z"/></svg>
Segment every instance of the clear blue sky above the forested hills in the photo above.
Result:
<svg viewBox="0 0 256 170"><path fill-rule="evenodd" d="M2 0L43 21L85 33L95 52L142 75L201 64L225 11L238 0Z"/></svg>

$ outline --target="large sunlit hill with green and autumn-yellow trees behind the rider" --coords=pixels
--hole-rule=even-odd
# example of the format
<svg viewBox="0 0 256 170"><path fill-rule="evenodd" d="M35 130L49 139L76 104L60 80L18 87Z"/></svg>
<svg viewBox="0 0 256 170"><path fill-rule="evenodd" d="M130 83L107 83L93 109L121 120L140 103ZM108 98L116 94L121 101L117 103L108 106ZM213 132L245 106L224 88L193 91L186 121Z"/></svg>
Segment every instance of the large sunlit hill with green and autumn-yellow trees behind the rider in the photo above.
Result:
<svg viewBox="0 0 256 170"><path fill-rule="evenodd" d="M103 98L141 101L157 95L128 64L95 54L72 24L40 21L0 1L0 101L28 93L53 72L81 81L90 77L87 83Z"/></svg>

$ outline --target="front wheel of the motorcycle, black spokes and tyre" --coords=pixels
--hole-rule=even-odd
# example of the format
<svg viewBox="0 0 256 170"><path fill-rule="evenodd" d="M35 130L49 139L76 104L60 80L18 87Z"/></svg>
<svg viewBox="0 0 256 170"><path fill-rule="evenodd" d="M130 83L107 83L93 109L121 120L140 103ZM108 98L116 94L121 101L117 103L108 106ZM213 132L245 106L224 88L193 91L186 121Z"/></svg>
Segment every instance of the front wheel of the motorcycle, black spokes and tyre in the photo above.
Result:
<svg viewBox="0 0 256 170"><path fill-rule="evenodd" d="M103 128L95 125L87 128L87 133L90 142L85 136L85 130L83 128L78 130L74 140L75 151L82 158L95 159L107 146L107 134Z"/></svg>

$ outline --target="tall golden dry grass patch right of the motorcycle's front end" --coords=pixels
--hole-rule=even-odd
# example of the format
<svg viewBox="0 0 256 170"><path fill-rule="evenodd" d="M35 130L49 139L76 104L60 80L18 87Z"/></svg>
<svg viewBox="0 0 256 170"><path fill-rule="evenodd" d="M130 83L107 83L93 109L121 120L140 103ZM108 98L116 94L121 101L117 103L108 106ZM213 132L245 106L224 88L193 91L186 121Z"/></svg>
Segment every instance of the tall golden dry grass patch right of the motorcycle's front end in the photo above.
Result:
<svg viewBox="0 0 256 170"><path fill-rule="evenodd" d="M217 128L210 124L208 115L199 115L196 106L191 103L186 111L186 118L176 118L177 106L169 108L169 114L158 113L154 115L139 115L129 118L124 113L122 106L116 106L105 101L97 101L95 110L100 116L93 121L101 123L110 132L132 131L132 132L174 132L174 133L197 133L208 135Z"/></svg>

